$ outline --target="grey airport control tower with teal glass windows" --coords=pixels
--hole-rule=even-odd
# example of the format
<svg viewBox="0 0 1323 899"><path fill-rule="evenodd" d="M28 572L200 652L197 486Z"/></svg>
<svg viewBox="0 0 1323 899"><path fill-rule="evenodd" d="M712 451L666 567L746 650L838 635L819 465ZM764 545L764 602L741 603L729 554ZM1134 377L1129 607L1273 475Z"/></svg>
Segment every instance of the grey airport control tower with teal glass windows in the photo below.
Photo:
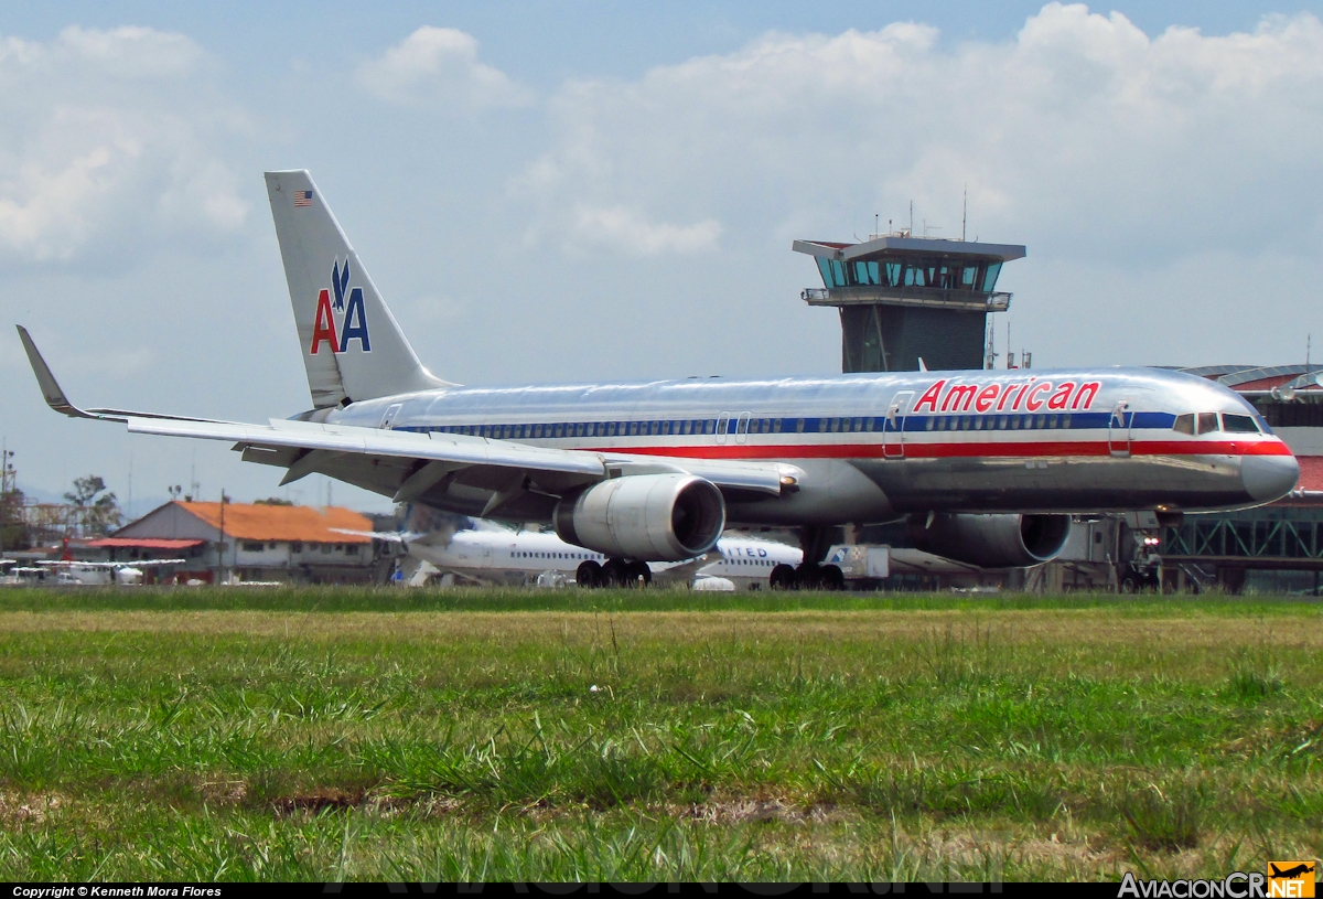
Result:
<svg viewBox="0 0 1323 899"><path fill-rule="evenodd" d="M822 287L802 298L840 310L843 372L991 367L984 359L988 312L1004 312L1002 266L1024 246L873 234L863 244L795 241L818 262Z"/></svg>

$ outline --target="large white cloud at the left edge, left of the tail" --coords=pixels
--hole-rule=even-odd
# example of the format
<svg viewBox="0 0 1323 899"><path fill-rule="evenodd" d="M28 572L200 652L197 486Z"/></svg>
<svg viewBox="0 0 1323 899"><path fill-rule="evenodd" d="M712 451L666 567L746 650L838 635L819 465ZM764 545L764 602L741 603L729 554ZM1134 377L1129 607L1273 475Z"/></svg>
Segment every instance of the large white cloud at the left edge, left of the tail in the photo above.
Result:
<svg viewBox="0 0 1323 899"><path fill-rule="evenodd" d="M216 144L243 126L212 69L149 28L0 40L0 265L233 234L247 203Z"/></svg>

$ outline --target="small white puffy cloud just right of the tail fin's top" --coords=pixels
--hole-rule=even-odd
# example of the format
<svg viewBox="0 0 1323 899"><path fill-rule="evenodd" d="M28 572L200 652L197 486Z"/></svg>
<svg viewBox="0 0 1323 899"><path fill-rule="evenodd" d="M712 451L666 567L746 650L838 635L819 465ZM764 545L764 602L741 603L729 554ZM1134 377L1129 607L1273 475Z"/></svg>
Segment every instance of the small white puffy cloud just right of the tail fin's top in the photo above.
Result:
<svg viewBox="0 0 1323 899"><path fill-rule="evenodd" d="M359 66L359 83L400 105L483 109L524 106L528 89L478 61L478 41L454 28L423 25L381 57Z"/></svg>

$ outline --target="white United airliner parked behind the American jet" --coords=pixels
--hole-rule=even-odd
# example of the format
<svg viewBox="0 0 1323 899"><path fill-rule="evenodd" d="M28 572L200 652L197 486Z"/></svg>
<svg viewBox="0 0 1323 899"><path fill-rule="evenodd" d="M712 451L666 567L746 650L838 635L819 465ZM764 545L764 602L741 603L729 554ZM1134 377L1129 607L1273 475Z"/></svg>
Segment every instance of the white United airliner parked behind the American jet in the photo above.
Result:
<svg viewBox="0 0 1323 899"><path fill-rule="evenodd" d="M561 540L554 532L512 531L500 526L478 524L460 531L348 531L401 544L409 556L426 561L438 572L458 575L480 584L523 587L546 576L558 576L579 587L622 587L639 581L651 584L692 584L700 577L724 577L740 588L766 587L777 565L794 568L803 553L783 543L721 538L717 545L697 559L681 563L638 563L627 573L632 580L614 581L602 563L609 559Z"/></svg>

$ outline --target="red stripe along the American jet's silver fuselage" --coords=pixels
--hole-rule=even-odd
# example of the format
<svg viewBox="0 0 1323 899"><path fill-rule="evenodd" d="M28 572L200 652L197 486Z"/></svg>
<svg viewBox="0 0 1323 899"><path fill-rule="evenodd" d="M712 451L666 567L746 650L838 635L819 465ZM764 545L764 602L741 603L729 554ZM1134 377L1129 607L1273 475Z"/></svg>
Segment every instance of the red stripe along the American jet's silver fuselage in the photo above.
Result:
<svg viewBox="0 0 1323 899"><path fill-rule="evenodd" d="M1040 455L1111 455L1113 446L1126 449L1123 441L1033 441L983 444L906 442L905 454L890 444L782 444L754 446L749 444L716 446L593 446L585 453L632 453L635 455L672 455L691 459L923 459L923 458L1031 458ZM1130 441L1131 455L1290 455L1279 440L1262 441ZM888 453L889 450L889 453Z"/></svg>

